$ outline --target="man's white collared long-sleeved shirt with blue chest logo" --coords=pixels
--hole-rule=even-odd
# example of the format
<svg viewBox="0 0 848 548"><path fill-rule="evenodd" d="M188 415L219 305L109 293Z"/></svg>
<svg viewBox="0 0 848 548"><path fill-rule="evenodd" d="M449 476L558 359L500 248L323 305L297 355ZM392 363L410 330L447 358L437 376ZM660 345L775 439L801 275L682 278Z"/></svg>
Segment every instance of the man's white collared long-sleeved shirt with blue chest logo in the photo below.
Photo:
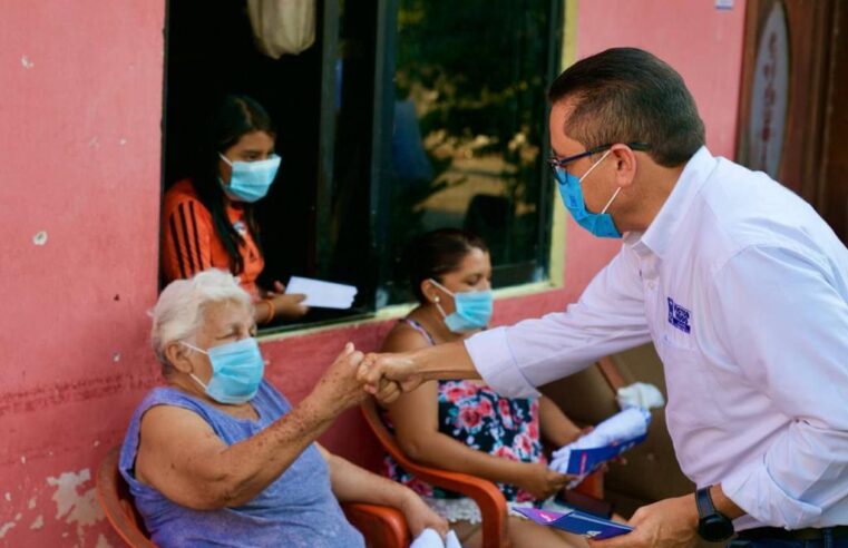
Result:
<svg viewBox="0 0 848 548"><path fill-rule="evenodd" d="M738 529L848 525L848 249L806 202L701 148L576 304L466 348L527 395L649 341L681 468Z"/></svg>

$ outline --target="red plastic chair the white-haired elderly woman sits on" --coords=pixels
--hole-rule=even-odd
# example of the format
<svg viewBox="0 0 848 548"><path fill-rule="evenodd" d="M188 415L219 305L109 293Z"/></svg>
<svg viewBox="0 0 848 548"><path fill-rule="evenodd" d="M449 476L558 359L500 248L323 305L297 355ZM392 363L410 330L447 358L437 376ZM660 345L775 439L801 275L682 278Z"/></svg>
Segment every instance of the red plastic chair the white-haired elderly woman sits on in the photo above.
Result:
<svg viewBox="0 0 848 548"><path fill-rule="evenodd" d="M120 448L111 449L97 470L97 500L113 529L133 548L156 548L144 528L144 521L133 505L133 496L118 471ZM407 548L410 544L409 528L403 515L394 509L377 505L345 503L344 515L365 537L373 548Z"/></svg>

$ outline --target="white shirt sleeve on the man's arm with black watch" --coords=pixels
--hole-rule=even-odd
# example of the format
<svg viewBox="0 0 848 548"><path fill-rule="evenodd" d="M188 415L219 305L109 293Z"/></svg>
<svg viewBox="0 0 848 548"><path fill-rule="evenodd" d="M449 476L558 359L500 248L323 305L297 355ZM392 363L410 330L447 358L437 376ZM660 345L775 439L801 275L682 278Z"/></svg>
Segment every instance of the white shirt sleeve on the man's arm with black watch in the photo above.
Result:
<svg viewBox="0 0 848 548"><path fill-rule="evenodd" d="M750 247L711 288L729 355L790 421L762 458L722 481L762 523L815 525L848 491L848 304L832 268L793 251Z"/></svg>

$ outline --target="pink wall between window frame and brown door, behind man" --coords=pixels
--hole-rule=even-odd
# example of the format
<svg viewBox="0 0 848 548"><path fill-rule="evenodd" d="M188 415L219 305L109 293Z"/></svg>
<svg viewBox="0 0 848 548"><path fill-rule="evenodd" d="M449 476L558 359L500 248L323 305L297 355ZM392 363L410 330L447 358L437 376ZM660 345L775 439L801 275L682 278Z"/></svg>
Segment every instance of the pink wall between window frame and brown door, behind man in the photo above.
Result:
<svg viewBox="0 0 848 548"><path fill-rule="evenodd" d="M578 0L577 58L607 48L636 47L659 56L686 81L706 125L706 146L735 156L737 115L744 36L744 0L717 10L714 0ZM571 218L567 228L566 295L573 301L618 249Z"/></svg>

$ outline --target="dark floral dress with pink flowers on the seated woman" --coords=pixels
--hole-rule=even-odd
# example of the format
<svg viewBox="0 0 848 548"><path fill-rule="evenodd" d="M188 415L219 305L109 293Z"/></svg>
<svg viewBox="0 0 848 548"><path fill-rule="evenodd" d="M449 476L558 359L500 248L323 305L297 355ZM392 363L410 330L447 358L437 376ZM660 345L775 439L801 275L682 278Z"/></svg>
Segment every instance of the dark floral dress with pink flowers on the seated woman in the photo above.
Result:
<svg viewBox="0 0 848 548"><path fill-rule="evenodd" d="M410 319L401 321L420 332L430 344L435 344L419 323ZM503 398L488 386L470 381L438 381L438 399L439 432L472 449L504 459L547 462L539 440L537 399ZM388 414L383 414L383 420L391 430ZM470 499L415 478L389 454L383 460L383 472L422 496L447 519L479 520L479 510L476 510L476 505ZM498 483L498 488L509 503L530 506L535 502L530 493L516 486Z"/></svg>

